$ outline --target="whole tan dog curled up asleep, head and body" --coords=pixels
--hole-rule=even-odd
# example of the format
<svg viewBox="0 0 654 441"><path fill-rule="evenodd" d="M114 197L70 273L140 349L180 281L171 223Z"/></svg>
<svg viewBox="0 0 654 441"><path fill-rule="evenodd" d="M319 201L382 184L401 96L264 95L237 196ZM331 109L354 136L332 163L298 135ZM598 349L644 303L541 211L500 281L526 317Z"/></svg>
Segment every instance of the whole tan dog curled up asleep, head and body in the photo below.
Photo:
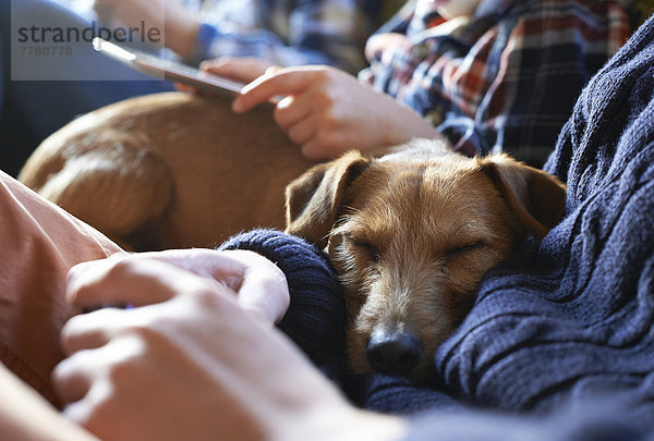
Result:
<svg viewBox="0 0 654 441"><path fill-rule="evenodd" d="M304 173L287 188L287 231L327 247L341 274L351 367L422 380L483 274L561 219L565 188L504 155L471 159L437 140L396 150L310 170L269 110L234 118L227 101L158 94L64 126L21 180L143 250L281 228L283 188Z"/></svg>

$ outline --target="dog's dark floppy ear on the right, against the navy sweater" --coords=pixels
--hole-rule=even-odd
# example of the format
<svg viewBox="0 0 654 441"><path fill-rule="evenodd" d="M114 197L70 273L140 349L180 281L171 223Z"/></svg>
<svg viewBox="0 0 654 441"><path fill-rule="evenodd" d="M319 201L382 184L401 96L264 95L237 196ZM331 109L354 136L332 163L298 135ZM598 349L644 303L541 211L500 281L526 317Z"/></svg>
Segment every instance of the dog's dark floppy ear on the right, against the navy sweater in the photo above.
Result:
<svg viewBox="0 0 654 441"><path fill-rule="evenodd" d="M542 238L561 221L566 211L566 186L558 179L504 154L486 157L481 164L534 237Z"/></svg>

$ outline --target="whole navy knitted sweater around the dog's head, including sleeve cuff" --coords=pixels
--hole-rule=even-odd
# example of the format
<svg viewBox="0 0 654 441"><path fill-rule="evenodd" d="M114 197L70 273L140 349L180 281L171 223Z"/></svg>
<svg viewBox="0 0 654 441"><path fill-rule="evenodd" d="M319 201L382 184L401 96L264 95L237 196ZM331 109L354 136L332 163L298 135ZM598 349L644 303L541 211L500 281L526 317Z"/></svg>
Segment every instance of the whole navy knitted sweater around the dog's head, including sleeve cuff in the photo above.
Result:
<svg viewBox="0 0 654 441"><path fill-rule="evenodd" d="M654 431L653 19L591 79L545 167L568 184L567 216L541 243L526 243L486 275L472 311L436 353L441 384L348 378L343 384L360 405L429 411L439 431L425 437L434 440L465 432L470 425L460 413L471 408L524 416L577 405L586 408L580 420L593 408L595 419L619 426L586 424L595 428L586 437ZM320 253L266 231L226 246L258 250L280 265L292 295L282 329L342 381L344 309ZM463 429L450 430L456 425L444 412L456 413ZM460 439L496 439L492 432ZM497 439L513 438L505 431ZM550 431L543 439L556 437Z"/></svg>

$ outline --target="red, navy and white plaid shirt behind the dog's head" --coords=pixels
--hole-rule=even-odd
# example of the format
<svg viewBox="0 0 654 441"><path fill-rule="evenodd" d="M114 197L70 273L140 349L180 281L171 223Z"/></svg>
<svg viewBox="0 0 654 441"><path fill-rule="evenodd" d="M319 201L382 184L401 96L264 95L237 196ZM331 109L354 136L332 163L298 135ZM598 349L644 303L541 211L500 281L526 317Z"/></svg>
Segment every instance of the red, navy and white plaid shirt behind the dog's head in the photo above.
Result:
<svg viewBox="0 0 654 441"><path fill-rule="evenodd" d="M362 79L431 119L467 155L505 150L534 164L629 35L617 1L483 0L475 16L450 22L414 11L384 29L411 37L411 50L390 48L390 61L373 61Z"/></svg>

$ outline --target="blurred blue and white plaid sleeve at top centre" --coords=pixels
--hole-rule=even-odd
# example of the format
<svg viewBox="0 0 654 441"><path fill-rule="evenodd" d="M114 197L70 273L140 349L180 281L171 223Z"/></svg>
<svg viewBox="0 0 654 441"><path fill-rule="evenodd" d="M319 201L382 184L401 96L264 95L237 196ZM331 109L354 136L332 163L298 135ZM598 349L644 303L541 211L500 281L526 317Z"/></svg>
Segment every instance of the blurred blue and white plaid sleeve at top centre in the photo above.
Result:
<svg viewBox="0 0 654 441"><path fill-rule="evenodd" d="M376 29L376 0L213 0L204 8L192 61L256 57L274 64L364 68L363 47Z"/></svg>

